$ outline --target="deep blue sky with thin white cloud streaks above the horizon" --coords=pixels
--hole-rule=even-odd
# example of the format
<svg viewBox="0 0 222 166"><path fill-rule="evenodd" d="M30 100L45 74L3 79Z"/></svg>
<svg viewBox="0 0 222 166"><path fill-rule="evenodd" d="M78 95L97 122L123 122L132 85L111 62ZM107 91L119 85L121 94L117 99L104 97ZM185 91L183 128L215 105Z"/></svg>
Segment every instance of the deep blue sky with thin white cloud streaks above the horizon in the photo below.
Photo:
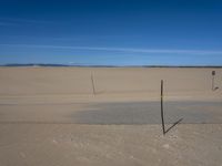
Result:
<svg viewBox="0 0 222 166"><path fill-rule="evenodd" d="M222 65L222 1L1 0L6 63Z"/></svg>

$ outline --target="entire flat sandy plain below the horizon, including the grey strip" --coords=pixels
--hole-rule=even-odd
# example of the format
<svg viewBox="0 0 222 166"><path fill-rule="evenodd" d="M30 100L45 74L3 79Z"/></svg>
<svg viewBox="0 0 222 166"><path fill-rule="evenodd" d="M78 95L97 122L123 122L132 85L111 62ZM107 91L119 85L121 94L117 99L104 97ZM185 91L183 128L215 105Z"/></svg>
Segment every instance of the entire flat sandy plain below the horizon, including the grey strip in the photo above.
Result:
<svg viewBox="0 0 222 166"><path fill-rule="evenodd" d="M221 166L221 101L222 69L0 68L0 166Z"/></svg>

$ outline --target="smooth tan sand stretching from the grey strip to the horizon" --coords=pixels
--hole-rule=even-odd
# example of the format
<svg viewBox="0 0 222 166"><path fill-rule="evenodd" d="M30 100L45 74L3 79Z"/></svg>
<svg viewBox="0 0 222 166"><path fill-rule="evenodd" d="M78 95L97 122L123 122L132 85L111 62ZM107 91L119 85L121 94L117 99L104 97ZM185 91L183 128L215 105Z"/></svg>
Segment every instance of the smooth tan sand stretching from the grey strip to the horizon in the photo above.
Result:
<svg viewBox="0 0 222 166"><path fill-rule="evenodd" d="M70 102L70 97L71 102L159 100L160 80L164 80L165 95L173 100L181 96L209 98L216 94L220 97L220 89L211 91L212 70L216 71L215 87L220 87L222 69L0 68L0 96L19 96L20 102L32 98Z"/></svg>

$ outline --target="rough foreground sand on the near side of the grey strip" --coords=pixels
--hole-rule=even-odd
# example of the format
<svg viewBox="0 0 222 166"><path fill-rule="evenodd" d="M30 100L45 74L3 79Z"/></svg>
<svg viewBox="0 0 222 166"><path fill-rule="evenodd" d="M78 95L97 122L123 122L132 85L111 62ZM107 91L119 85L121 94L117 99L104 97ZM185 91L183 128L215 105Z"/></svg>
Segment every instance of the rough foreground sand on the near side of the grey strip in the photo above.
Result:
<svg viewBox="0 0 222 166"><path fill-rule="evenodd" d="M1 124L1 166L221 166L222 125Z"/></svg>

